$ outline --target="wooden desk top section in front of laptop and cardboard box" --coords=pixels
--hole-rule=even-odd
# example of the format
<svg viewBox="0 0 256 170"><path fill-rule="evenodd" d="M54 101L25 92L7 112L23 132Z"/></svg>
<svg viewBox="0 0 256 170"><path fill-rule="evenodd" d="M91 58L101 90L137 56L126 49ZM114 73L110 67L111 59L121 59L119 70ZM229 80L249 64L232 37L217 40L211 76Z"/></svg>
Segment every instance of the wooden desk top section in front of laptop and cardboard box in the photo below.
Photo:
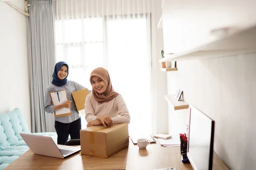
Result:
<svg viewBox="0 0 256 170"><path fill-rule="evenodd" d="M9 164L5 170L65 169L65 170L125 170L128 147L109 158L85 156L77 153L66 159L52 158L26 151Z"/></svg>

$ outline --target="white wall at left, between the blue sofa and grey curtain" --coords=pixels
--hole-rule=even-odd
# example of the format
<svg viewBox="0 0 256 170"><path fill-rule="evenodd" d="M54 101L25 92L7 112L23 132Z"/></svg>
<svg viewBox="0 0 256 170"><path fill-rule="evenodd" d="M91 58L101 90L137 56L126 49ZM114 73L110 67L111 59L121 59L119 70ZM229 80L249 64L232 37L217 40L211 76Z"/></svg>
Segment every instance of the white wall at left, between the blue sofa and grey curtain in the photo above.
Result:
<svg viewBox="0 0 256 170"><path fill-rule="evenodd" d="M24 8L23 0L11 0ZM27 20L6 3L0 2L0 113L20 108L31 130Z"/></svg>

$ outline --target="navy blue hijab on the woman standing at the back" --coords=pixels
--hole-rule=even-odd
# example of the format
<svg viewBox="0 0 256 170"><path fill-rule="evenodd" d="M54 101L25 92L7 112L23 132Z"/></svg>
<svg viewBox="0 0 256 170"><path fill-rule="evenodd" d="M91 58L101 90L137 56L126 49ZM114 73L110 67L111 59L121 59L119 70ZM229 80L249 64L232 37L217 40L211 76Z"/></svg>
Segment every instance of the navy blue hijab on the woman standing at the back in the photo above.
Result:
<svg viewBox="0 0 256 170"><path fill-rule="evenodd" d="M54 72L52 74L52 78L53 78L52 79L52 84L57 85L58 87L67 84L67 76L65 77L65 79L59 79L58 78L58 71L60 70L62 65L66 65L67 66L67 76L68 76L68 65L64 61L60 61L60 62L56 63L55 68L54 68Z"/></svg>

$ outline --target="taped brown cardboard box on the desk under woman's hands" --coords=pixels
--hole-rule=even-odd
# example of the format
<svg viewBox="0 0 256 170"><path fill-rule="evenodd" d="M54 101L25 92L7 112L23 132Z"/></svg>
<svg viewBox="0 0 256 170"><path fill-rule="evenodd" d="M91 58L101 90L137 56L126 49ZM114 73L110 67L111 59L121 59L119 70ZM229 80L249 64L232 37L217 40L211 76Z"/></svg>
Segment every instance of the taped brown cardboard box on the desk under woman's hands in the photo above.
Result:
<svg viewBox="0 0 256 170"><path fill-rule="evenodd" d="M91 126L80 130L81 154L108 158L129 145L128 124Z"/></svg>

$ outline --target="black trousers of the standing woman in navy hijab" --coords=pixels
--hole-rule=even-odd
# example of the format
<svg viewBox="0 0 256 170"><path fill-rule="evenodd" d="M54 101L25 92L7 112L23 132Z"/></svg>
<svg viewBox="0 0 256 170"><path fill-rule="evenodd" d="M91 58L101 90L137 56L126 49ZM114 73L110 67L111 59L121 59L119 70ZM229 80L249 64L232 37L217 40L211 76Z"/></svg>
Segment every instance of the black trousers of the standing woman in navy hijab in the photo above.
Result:
<svg viewBox="0 0 256 170"><path fill-rule="evenodd" d="M70 135L71 139L80 139L81 118L71 123L55 121L55 130L58 135L58 144L65 144L67 142L68 135Z"/></svg>

